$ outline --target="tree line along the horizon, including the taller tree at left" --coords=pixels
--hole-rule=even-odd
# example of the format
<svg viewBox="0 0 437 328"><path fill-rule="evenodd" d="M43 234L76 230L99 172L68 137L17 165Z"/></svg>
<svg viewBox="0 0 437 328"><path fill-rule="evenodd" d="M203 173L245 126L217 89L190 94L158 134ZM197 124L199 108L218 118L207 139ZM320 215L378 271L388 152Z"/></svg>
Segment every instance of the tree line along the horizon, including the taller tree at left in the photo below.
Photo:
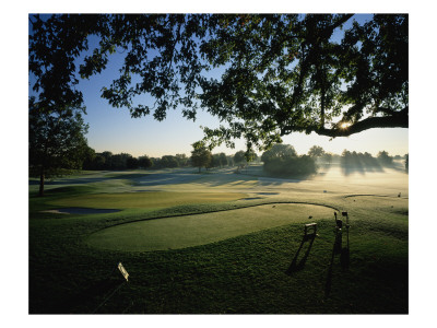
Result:
<svg viewBox="0 0 437 328"><path fill-rule="evenodd" d="M33 112L36 113L36 112ZM120 171L120 169L160 169L176 167L198 167L205 169L214 167L247 165L250 162L262 162L264 172L277 176L302 176L317 172L317 163L330 164L339 162L342 167L381 167L392 166L393 160L401 160L400 155L390 156L387 151L380 151L377 157L371 154L350 152L344 150L341 155L326 152L321 147L314 145L308 154L298 155L291 144L276 143L259 156L237 151L234 155L212 153L203 142L192 144L190 156L186 154L164 155L162 157L138 157L129 153L113 154L110 151L96 153L87 145L83 137L86 132L83 124L62 125L62 117L47 115L29 116L29 176L39 176L39 195L44 195L46 178L54 178L71 174L74 171ZM67 119L68 120L68 119ZM38 129L44 126L45 129ZM85 126L86 128L86 126ZM70 144L70 143L74 144ZM68 144L67 144L68 143ZM68 151L63 151L68 150ZM409 169L409 155L405 159L405 169Z"/></svg>

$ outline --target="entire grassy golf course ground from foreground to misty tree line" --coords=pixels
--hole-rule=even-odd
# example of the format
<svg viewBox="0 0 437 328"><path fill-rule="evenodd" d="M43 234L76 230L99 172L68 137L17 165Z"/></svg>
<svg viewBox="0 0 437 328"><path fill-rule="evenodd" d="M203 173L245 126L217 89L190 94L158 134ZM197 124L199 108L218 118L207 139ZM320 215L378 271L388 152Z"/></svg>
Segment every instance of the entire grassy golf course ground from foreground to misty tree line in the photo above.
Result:
<svg viewBox="0 0 437 328"><path fill-rule="evenodd" d="M31 185L29 313L409 313L408 175L342 176L331 167L296 180L194 172L87 173L54 181L43 198ZM117 213L43 212L116 202ZM331 262L334 209L350 218L347 269L340 255ZM306 222L318 226L310 248L300 247ZM98 234L114 247L90 244ZM147 236L161 250L127 248ZM296 256L303 266L287 274ZM114 270L120 261L130 274L122 285Z"/></svg>

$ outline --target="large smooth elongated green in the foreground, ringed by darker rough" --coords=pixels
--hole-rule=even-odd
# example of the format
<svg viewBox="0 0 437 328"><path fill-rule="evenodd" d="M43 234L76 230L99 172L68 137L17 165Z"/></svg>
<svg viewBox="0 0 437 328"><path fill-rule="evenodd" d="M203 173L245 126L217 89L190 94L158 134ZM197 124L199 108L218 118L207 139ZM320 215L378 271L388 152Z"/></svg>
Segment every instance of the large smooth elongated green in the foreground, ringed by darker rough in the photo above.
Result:
<svg viewBox="0 0 437 328"><path fill-rule="evenodd" d="M290 223L329 219L333 218L333 211L331 208L314 204L264 204L120 224L92 234L86 243L97 248L125 251L177 249Z"/></svg>

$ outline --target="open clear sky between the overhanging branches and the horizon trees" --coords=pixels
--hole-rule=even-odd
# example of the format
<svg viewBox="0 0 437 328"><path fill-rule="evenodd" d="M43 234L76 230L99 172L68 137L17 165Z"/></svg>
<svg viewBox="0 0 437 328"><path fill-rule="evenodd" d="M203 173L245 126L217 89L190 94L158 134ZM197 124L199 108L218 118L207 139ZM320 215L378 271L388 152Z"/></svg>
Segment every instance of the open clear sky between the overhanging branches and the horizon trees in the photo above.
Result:
<svg viewBox="0 0 437 328"><path fill-rule="evenodd" d="M369 17L366 14L355 16L358 22ZM349 22L349 24L351 24ZM345 26L347 27L347 26ZM93 50L92 40L90 44ZM101 97L101 89L109 86L117 77L121 67L123 54L110 57L107 69L82 80L78 86L83 92L87 115L84 117L90 129L87 140L91 148L96 152L111 151L113 153L126 152L133 156L146 154L149 156L162 156L166 154L185 153L192 150L191 144L203 137L200 126L210 128L218 127L220 122L205 112L199 112L196 121L187 120L180 110L167 112L164 121L156 121L152 116L131 118L126 108L114 108L106 99ZM144 95L139 102L151 104L151 99ZM376 155L386 150L390 154L403 155L409 152L408 129L371 129L347 138L335 138L330 141L328 137L311 133L293 133L283 138L284 143L292 144L299 154L307 153L309 148L317 144L326 151L341 153L344 149L357 152L369 152ZM244 140L236 140L235 149L220 147L213 152L225 152L233 154L245 149Z"/></svg>

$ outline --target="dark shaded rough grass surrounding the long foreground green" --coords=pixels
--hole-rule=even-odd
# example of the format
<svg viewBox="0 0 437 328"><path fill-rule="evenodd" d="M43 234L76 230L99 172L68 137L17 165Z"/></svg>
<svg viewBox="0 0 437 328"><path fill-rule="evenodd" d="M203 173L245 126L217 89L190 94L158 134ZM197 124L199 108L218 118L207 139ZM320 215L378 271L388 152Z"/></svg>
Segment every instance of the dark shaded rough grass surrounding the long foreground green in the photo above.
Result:
<svg viewBox="0 0 437 328"><path fill-rule="evenodd" d="M126 186L115 181L122 188ZM341 195L322 199L305 194L286 199L271 196L185 203L160 210L132 208L111 214L39 212L54 208L54 202L98 194L101 188L98 183L57 188L44 198L31 192L29 313L395 314L409 311L405 199L369 197L366 201L358 198L354 201ZM305 198L308 202L349 211L352 226L347 270L342 269L339 255L331 266L333 218L317 221L319 237L302 270L291 274L286 270L299 248L303 222L182 249L119 251L86 244L93 233L120 223L178 214L215 212L210 215L217 215L232 213L217 211L305 201ZM129 282L121 285L121 274L114 270L119 261L130 274ZM327 295L330 269L332 279ZM113 291L116 293L106 300Z"/></svg>

